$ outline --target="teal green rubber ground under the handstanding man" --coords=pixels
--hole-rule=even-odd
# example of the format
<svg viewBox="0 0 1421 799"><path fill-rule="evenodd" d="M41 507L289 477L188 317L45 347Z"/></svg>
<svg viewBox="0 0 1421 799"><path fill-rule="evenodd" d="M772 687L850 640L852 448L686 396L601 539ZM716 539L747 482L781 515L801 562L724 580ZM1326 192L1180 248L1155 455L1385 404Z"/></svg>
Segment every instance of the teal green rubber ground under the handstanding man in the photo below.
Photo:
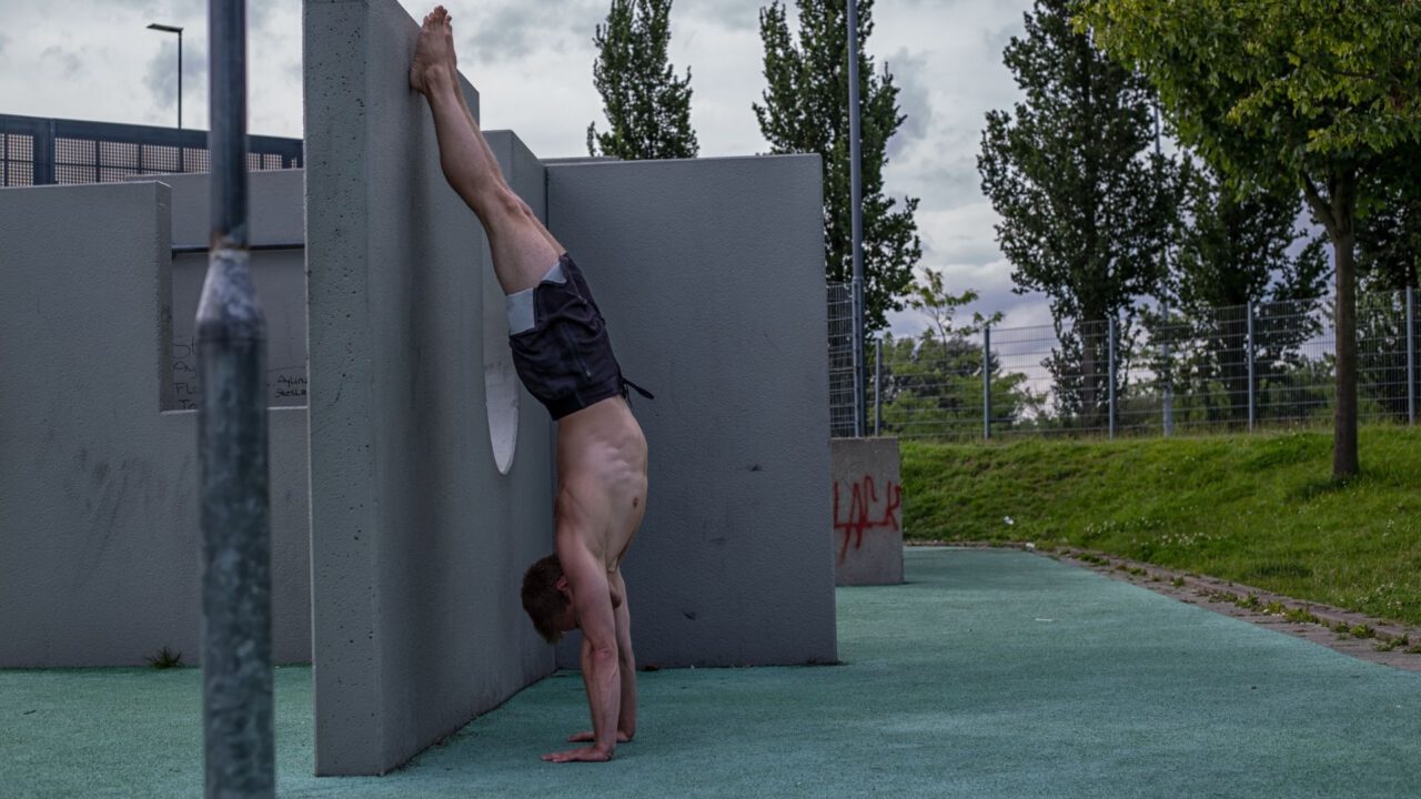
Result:
<svg viewBox="0 0 1421 799"><path fill-rule="evenodd" d="M277 671L281 796L1418 796L1421 674L1017 552L908 550L838 590L843 665L641 674L605 765L576 674L384 778L311 776ZM0 796L202 795L198 670L0 671Z"/></svg>

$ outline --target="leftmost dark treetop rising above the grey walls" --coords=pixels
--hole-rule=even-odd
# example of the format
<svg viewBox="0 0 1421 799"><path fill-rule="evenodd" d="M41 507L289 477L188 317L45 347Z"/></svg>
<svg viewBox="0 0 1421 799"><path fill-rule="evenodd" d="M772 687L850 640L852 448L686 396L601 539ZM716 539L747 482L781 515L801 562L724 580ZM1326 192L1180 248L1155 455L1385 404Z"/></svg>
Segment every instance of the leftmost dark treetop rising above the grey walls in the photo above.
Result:
<svg viewBox="0 0 1421 799"><path fill-rule="evenodd" d="M608 129L587 125L587 152L624 159L695 158L691 68L678 78L668 61L672 0L612 0L593 43L593 85Z"/></svg>

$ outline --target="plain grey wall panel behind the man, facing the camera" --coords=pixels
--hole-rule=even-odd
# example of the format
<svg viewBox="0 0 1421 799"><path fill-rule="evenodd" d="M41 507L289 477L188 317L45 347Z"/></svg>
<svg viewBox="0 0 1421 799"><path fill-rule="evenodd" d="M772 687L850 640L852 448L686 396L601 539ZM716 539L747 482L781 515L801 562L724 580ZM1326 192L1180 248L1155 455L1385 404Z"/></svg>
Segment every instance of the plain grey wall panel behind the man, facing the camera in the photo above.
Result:
<svg viewBox="0 0 1421 799"><path fill-rule="evenodd" d="M624 564L638 660L834 660L818 161L547 169L551 232L657 395L634 397L651 448Z"/></svg>

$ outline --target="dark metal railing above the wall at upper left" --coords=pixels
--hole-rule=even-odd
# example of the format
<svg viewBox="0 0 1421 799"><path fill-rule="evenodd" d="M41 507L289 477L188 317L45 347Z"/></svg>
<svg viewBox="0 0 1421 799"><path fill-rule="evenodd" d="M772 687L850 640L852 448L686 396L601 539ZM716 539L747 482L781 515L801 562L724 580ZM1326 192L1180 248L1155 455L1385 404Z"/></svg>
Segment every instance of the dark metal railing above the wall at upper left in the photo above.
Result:
<svg viewBox="0 0 1421 799"><path fill-rule="evenodd" d="M247 136L249 169L294 169L303 152L301 139ZM0 114L0 186L112 183L210 168L206 131Z"/></svg>

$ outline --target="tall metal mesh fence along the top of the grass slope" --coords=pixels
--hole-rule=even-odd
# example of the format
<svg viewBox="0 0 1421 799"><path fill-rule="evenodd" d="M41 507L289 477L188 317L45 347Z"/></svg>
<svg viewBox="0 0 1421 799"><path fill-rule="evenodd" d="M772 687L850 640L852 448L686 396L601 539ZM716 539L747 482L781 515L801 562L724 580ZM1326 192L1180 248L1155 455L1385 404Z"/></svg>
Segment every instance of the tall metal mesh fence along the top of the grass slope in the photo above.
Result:
<svg viewBox="0 0 1421 799"><path fill-rule="evenodd" d="M837 291L837 294L836 294ZM847 287L830 287L831 435L853 435ZM1357 300L1361 421L1415 424L1417 291ZM1174 435L1324 425L1336 388L1326 299L1138 311L1107 321L880 340L870 429L899 438ZM986 368L983 368L983 364ZM875 380L875 374L878 375ZM878 424L875 425L875 419Z"/></svg>

